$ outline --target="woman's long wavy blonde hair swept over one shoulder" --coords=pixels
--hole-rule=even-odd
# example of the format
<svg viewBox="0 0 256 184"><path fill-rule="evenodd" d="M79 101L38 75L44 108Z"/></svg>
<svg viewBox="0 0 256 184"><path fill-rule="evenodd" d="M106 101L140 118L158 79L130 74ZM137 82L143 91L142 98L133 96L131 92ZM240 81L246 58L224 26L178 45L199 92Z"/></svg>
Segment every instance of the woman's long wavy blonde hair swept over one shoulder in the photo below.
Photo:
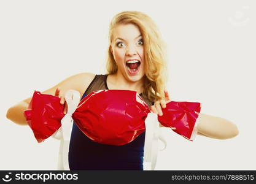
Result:
<svg viewBox="0 0 256 184"><path fill-rule="evenodd" d="M115 74L117 64L111 52L113 29L120 24L132 23L138 26L144 42L144 71L143 96L150 101L158 101L165 98L164 90L167 79L165 43L160 37L159 31L153 20L142 12L120 12L112 19L109 26L109 49L107 53L107 72Z"/></svg>

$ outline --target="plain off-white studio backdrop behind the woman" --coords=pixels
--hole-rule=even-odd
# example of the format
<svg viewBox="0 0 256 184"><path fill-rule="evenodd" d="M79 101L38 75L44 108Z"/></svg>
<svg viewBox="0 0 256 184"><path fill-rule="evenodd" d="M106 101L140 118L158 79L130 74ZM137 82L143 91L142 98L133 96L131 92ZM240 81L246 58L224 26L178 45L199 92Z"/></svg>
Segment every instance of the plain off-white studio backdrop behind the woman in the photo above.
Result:
<svg viewBox="0 0 256 184"><path fill-rule="evenodd" d="M38 144L9 107L80 72L104 74L112 17L147 13L168 46L173 101L235 123L239 135L190 142L161 128L168 147L157 170L255 170L255 1L1 1L0 169L55 170L59 142Z"/></svg>

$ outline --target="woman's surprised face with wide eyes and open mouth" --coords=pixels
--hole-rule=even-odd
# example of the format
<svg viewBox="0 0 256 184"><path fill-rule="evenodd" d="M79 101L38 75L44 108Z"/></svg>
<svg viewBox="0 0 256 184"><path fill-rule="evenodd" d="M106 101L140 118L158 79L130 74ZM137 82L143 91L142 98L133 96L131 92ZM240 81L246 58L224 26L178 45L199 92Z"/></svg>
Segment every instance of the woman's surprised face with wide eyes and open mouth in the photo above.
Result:
<svg viewBox="0 0 256 184"><path fill-rule="evenodd" d="M111 52L117 63L117 75L136 82L144 76L144 46L141 31L133 24L118 25L113 30Z"/></svg>

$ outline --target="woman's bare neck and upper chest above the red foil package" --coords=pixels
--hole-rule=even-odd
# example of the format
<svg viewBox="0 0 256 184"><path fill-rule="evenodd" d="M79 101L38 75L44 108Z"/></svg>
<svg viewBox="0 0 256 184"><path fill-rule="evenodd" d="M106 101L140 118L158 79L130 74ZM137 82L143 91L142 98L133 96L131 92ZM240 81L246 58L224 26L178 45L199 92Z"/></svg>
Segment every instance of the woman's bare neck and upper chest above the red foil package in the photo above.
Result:
<svg viewBox="0 0 256 184"><path fill-rule="evenodd" d="M133 90L139 94L143 92L143 79L136 82L129 81L118 72L107 77L107 85L110 90Z"/></svg>

